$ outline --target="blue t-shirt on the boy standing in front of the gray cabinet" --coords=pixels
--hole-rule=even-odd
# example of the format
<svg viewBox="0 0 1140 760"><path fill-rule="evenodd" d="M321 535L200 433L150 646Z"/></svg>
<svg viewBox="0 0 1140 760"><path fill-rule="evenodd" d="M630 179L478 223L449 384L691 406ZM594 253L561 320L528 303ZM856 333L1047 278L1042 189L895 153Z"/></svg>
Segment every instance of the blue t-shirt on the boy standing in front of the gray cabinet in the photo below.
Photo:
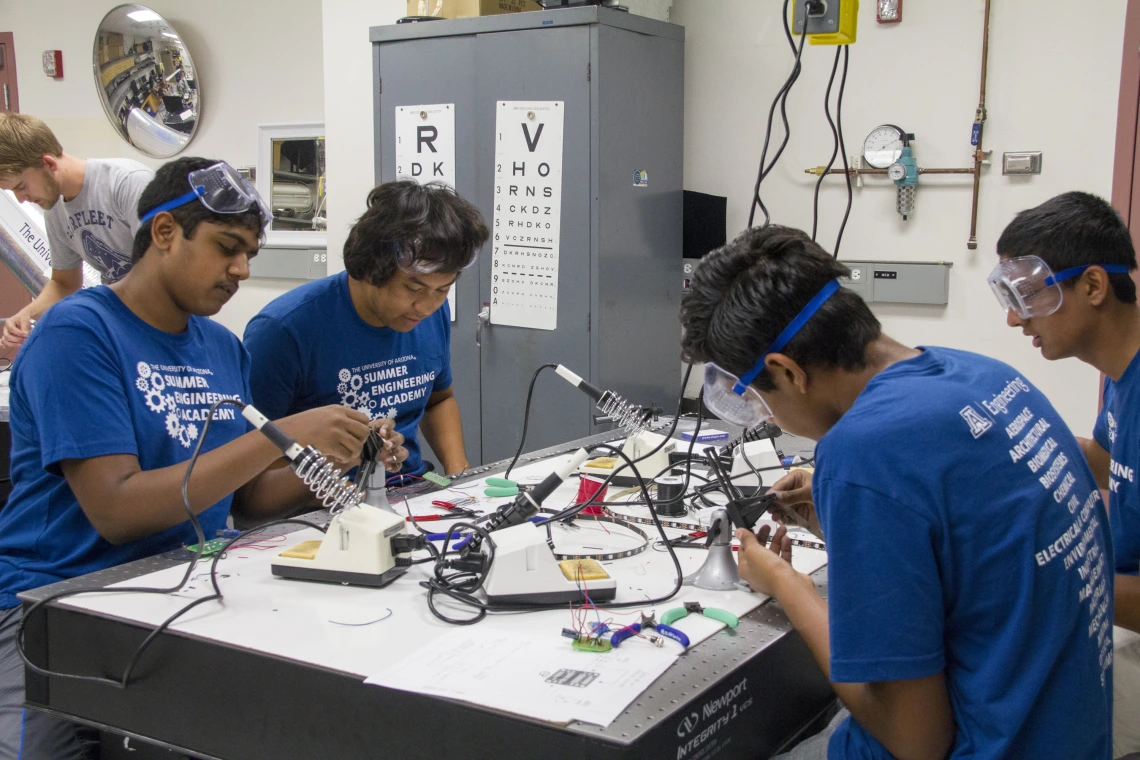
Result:
<svg viewBox="0 0 1140 760"><path fill-rule="evenodd" d="M357 312L348 273L275 299L245 327L253 406L270 419L341 403L370 419L393 417L408 458L423 472L416 428L427 399L451 386L447 304L407 333L373 327Z"/></svg>

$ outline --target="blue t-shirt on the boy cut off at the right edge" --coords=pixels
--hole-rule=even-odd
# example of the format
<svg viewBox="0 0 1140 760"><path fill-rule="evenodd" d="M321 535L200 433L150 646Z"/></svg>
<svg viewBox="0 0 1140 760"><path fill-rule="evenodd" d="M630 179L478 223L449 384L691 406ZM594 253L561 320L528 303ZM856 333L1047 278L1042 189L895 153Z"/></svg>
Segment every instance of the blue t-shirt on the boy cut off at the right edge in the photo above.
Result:
<svg viewBox="0 0 1140 760"><path fill-rule="evenodd" d="M1112 456L1108 476L1108 524L1113 529L1116 572L1140 571L1140 353L1121 382L1105 378L1105 397L1092 436Z"/></svg>

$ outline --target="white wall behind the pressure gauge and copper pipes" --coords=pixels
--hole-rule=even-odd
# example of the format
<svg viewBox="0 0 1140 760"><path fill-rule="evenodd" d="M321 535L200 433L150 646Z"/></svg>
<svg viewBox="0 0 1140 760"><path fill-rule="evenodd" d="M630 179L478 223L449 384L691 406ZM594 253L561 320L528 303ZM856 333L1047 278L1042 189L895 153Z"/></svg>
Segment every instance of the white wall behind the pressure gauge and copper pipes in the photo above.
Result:
<svg viewBox="0 0 1140 760"><path fill-rule="evenodd" d="M767 108L791 68L781 5L675 0L673 6L671 21L683 24L686 35L685 188L728 197L730 239L747 224ZM876 24L874 6L862 3L858 41L850 48L847 153L858 155L878 124L895 123L915 133L920 166L972 165L984 3L911 1L903 22L887 26ZM1070 189L1105 197L1112 191L1125 0L1091 7L1096 13L1064 0L993 2L985 147L994 150L996 165L982 180L977 251L966 248L969 177L922 177L915 213L906 222L895 213L893 183L869 180L855 190L840 248L840 259L953 262L950 304L876 305L886 332L910 344L969 349L1010 362L1083 435L1091 433L1096 415L1098 374L1076 360L1045 362L1019 330L1005 327L985 275L1016 212ZM831 47L804 50L804 74L788 99L792 139L762 188L779 223L811 230L815 178L804 170L825 163L831 153L823 93L833 56ZM1007 150L1044 152L1043 173L1002 177ZM824 188L820 240L830 251L846 189L841 178L830 178Z"/></svg>

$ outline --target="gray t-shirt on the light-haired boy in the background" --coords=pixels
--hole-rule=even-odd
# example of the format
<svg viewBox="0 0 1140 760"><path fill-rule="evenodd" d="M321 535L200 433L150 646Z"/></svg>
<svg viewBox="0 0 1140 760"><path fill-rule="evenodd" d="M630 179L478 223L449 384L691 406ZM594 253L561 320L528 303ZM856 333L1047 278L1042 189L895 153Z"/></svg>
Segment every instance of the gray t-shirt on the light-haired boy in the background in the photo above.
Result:
<svg viewBox="0 0 1140 760"><path fill-rule="evenodd" d="M130 158L88 158L79 195L44 214L51 268L85 261L104 285L121 279L131 268L139 196L152 179L153 171Z"/></svg>

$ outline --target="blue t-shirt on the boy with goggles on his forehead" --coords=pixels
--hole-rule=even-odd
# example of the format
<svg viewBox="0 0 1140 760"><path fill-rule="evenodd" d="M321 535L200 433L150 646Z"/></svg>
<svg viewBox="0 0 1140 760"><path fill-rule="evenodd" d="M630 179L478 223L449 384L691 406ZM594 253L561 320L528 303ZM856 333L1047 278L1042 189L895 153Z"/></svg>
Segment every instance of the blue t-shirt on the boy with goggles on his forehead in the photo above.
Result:
<svg viewBox="0 0 1140 760"><path fill-rule="evenodd" d="M171 335L146 324L111 288L80 291L48 310L11 370L11 496L0 510L0 607L16 594L197 541L190 522L113 545L91 525L59 467L64 459L129 453L142 469L190 458L210 406L249 399L249 356L225 327L192 317ZM247 430L219 408L202 450ZM231 497L198 515L225 528Z"/></svg>

